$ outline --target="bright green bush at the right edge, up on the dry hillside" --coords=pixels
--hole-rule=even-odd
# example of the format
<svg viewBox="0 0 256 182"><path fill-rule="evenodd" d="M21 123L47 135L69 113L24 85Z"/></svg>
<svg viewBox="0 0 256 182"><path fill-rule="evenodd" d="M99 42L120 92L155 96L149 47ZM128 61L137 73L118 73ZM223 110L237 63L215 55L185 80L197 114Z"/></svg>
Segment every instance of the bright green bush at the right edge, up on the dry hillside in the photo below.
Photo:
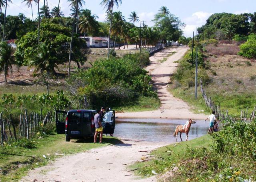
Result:
<svg viewBox="0 0 256 182"><path fill-rule="evenodd" d="M256 58L256 34L250 34L247 42L240 45L238 55L246 58Z"/></svg>

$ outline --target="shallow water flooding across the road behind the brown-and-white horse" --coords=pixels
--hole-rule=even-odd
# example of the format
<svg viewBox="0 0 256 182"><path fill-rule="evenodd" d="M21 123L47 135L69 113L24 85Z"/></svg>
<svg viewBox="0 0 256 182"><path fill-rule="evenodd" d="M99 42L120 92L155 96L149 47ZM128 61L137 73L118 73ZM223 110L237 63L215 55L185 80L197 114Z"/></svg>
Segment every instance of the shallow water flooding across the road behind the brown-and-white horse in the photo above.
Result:
<svg viewBox="0 0 256 182"><path fill-rule="evenodd" d="M175 142L174 130L178 124L184 125L187 120L168 119L118 119L114 135L120 138L131 138L150 142ZM208 122L196 121L192 124L188 140L200 137L208 132ZM182 134L186 140L186 134ZM178 141L180 138L178 136Z"/></svg>

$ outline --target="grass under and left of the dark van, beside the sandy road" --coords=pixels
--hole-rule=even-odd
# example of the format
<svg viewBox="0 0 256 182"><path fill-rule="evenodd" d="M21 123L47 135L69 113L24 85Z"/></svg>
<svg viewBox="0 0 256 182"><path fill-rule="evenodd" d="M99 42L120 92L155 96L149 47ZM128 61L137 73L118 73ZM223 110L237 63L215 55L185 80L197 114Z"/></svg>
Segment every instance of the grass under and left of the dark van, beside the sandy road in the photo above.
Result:
<svg viewBox="0 0 256 182"><path fill-rule="evenodd" d="M55 160L58 154L74 154L109 144L121 143L117 138L104 137L104 144L94 144L93 139L65 141L64 134L41 139L31 139L36 148L6 146L0 148L0 181L18 181L28 170L44 166ZM57 155L56 155L57 154ZM46 158L43 157L46 156Z"/></svg>

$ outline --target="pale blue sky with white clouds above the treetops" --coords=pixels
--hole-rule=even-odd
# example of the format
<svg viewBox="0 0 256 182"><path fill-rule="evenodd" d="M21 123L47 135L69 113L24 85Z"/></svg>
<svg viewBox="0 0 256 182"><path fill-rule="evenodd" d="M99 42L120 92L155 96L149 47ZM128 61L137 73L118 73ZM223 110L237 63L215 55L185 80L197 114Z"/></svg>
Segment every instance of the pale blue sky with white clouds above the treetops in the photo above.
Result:
<svg viewBox="0 0 256 182"><path fill-rule="evenodd" d="M48 6L52 9L58 6L58 0L46 0ZM100 5L102 0L85 0L83 9L90 9L92 14L96 14L98 21L105 20L104 7ZM18 15L25 14L32 19L31 8L22 3L22 0L12 0L12 4L7 8L6 14ZM40 6L43 6L43 0L40 0ZM141 21L146 21L148 26L154 26L151 20L154 14L158 13L161 6L167 6L171 14L180 18L186 24L183 28L184 36L191 37L196 27L201 27L206 23L207 18L214 13L253 13L256 12L256 0L122 0L119 8L114 7L114 11L121 11L126 21L129 21L129 14L132 11L138 13ZM37 5L32 4L34 17L37 13ZM69 16L70 7L66 0L60 0L61 10L65 16ZM137 24L139 26L139 24Z"/></svg>

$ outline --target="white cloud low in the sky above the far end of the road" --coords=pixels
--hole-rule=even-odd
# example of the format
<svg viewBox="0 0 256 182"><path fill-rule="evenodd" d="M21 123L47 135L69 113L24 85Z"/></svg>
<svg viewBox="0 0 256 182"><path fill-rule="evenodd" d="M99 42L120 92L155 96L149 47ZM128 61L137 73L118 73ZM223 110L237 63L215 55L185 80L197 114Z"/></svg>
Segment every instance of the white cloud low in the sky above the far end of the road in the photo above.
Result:
<svg viewBox="0 0 256 182"><path fill-rule="evenodd" d="M206 23L206 20L211 16L212 13L209 12L195 12L192 16L185 18L183 21L186 24L186 27L183 28L184 36L192 37L193 31L196 34L196 27L201 27Z"/></svg>

